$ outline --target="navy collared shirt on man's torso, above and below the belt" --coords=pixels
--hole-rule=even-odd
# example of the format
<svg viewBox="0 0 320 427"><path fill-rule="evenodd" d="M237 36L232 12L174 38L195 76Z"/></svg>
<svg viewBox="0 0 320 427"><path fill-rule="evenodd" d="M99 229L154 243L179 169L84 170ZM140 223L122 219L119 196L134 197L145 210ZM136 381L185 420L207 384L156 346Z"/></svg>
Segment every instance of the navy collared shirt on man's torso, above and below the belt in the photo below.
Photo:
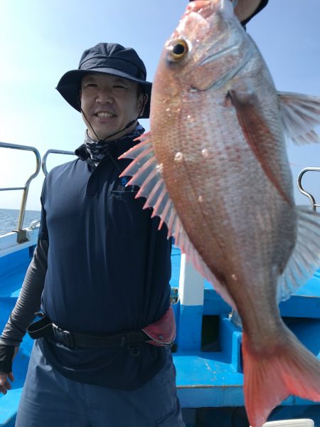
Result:
<svg viewBox="0 0 320 427"><path fill-rule="evenodd" d="M115 334L140 330L170 304L171 240L143 199L119 178L129 145L116 143L95 164L79 158L53 169L43 186L41 230L48 240L43 312L64 330ZM119 169L118 169L119 167ZM41 339L48 361L76 381L136 389L164 364L162 347L143 343L134 357L127 348L69 349Z"/></svg>

